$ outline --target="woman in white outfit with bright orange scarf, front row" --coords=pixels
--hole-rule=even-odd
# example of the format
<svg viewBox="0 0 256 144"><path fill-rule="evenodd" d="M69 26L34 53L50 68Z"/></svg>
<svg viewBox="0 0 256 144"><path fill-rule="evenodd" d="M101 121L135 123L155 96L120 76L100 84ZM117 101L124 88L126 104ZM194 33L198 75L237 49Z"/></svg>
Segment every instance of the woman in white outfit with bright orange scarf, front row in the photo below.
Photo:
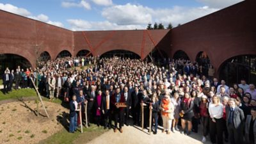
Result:
<svg viewBox="0 0 256 144"><path fill-rule="evenodd" d="M163 100L161 101L161 104L160 104L160 110L161 110L161 115L163 119L162 132L167 131L167 134L170 134L172 120L174 118L173 117L174 107L169 95L164 95Z"/></svg>

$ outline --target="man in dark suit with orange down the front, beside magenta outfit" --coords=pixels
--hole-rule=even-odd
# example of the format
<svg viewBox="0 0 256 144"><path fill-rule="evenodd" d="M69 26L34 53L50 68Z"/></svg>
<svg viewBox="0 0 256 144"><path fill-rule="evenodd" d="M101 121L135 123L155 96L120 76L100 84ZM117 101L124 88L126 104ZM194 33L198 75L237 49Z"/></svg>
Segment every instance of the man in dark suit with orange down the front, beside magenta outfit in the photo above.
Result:
<svg viewBox="0 0 256 144"><path fill-rule="evenodd" d="M104 118L104 129L107 127L111 129L111 105L109 90L106 90L104 96L102 97L101 109Z"/></svg>

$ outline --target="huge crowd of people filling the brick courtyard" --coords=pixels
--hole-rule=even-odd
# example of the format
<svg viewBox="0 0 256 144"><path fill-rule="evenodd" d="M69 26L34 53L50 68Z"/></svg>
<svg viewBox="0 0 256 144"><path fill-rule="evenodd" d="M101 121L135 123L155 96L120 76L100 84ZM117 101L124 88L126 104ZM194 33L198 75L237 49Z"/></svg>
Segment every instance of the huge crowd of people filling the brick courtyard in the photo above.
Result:
<svg viewBox="0 0 256 144"><path fill-rule="evenodd" d="M241 84L227 86L224 80L213 78L211 65L207 71L205 63L202 67L188 60L168 62L165 67L157 67L152 62L129 58L58 58L26 71L20 67L15 72L6 69L4 92L12 90L12 83L17 89L32 87L31 81L35 81L45 97L69 102L70 132L76 131L81 119L84 122L84 103L88 126L113 127L114 132L123 132L124 124L142 126L143 103L143 127L149 126L151 109L152 127L148 129L154 134L158 125L166 134L179 131L186 135L198 132L198 125L202 125L202 142L209 135L212 143L255 143L254 84L241 79ZM74 67L88 63L92 65L79 70ZM81 118L78 111L83 113Z"/></svg>

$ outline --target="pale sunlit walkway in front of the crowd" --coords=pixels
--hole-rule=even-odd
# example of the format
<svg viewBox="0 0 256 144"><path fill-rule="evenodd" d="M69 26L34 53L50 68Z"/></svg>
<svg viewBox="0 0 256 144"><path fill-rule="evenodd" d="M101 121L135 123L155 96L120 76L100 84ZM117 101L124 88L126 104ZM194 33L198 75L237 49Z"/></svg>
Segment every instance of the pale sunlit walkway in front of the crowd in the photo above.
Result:
<svg viewBox="0 0 256 144"><path fill-rule="evenodd" d="M123 127L123 133L117 131L116 133L111 130L105 132L98 138L90 141L90 144L104 143L104 144L120 144L120 143L129 143L129 144L137 144L137 143L147 143L147 144L201 144L202 133L198 132L198 134L191 132L189 136L180 134L180 132L171 132L171 134L166 134L166 132L162 133L161 130L157 132L157 134L149 135L147 133L147 129L144 129L144 132L141 131L140 127L132 127L125 126ZM209 138L205 142L210 144Z"/></svg>

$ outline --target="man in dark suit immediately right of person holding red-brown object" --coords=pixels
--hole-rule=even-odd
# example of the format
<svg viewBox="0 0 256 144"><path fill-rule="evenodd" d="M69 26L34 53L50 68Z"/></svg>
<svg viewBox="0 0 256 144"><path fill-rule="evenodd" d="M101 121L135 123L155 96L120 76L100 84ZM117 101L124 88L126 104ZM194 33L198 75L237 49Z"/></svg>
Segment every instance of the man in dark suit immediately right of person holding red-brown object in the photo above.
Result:
<svg viewBox="0 0 256 144"><path fill-rule="evenodd" d="M132 105L132 98L131 98L131 93L129 93L128 91L128 87L125 86L124 87L124 98L125 98L125 104L126 104L126 108L124 108L124 114L125 114L125 118L124 118L124 124L125 125L128 125L128 119L129 119L129 112L130 112L130 109L132 108L131 105Z"/></svg>

